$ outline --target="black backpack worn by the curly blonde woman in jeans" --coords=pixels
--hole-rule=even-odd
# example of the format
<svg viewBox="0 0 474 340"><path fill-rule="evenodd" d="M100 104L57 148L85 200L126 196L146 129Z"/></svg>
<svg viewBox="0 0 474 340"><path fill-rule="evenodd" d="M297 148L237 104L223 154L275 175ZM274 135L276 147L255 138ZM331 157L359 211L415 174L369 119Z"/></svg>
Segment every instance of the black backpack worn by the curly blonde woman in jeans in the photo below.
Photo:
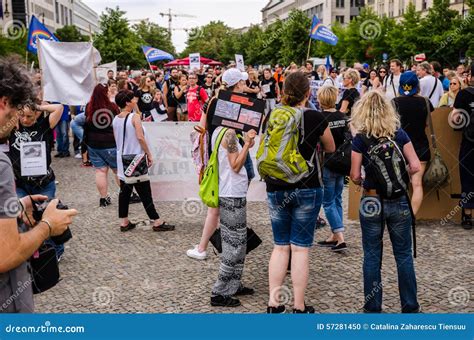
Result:
<svg viewBox="0 0 474 340"><path fill-rule="evenodd" d="M388 137L363 138L370 159L366 176L370 176L375 183L377 194L386 199L407 195L410 177L406 170L405 157L398 144Z"/></svg>

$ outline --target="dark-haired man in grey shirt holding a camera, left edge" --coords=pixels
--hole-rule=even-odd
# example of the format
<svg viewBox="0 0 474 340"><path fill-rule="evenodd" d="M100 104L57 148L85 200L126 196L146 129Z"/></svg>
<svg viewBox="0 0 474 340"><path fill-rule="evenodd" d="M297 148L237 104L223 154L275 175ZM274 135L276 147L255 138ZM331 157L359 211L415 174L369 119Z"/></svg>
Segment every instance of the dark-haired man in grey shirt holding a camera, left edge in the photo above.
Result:
<svg viewBox="0 0 474 340"><path fill-rule="evenodd" d="M26 70L13 59L0 59L0 312L33 312L32 281L28 259L51 236L62 235L77 211L58 210L53 200L41 221L33 225L35 202L43 195L18 200L12 165L5 155L6 141L18 124L18 109L35 100L33 84ZM24 231L24 232L20 232Z"/></svg>

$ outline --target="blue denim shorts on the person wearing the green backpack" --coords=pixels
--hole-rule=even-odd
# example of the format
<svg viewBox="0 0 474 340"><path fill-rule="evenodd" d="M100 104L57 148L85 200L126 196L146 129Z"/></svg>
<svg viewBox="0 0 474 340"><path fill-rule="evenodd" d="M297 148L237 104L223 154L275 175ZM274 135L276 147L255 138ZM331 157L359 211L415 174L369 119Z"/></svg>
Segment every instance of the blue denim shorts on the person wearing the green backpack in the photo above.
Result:
<svg viewBox="0 0 474 340"><path fill-rule="evenodd" d="M275 191L267 195L275 245L311 247L323 201L322 189Z"/></svg>

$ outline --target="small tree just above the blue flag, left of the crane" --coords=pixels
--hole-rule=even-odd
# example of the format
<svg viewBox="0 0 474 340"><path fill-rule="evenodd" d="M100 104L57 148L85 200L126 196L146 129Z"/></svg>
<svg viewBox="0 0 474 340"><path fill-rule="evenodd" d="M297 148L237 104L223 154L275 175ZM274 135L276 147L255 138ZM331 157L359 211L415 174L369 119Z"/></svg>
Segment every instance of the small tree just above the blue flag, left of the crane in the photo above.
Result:
<svg viewBox="0 0 474 340"><path fill-rule="evenodd" d="M133 26L133 30L145 45L159 48L173 55L176 54L176 50L166 28L142 20Z"/></svg>

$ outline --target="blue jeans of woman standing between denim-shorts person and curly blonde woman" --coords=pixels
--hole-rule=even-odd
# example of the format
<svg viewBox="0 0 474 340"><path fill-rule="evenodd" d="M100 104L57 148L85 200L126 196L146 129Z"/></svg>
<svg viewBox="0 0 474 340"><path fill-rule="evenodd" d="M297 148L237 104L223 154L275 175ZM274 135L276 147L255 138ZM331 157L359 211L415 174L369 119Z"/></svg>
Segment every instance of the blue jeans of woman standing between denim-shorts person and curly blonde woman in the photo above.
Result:
<svg viewBox="0 0 474 340"><path fill-rule="evenodd" d="M331 231L344 232L342 212L342 190L344 189L344 176L332 172L328 168L323 170L323 207Z"/></svg>

